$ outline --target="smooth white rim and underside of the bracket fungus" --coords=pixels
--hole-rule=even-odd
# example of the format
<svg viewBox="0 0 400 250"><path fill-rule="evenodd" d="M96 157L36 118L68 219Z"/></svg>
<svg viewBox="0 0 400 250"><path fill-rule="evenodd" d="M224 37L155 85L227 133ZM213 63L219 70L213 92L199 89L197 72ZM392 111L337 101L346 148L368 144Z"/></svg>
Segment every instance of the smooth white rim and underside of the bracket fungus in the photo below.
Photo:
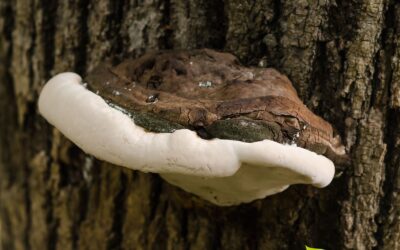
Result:
<svg viewBox="0 0 400 250"><path fill-rule="evenodd" d="M159 173L217 205L261 199L291 184L325 187L334 176L328 158L271 140L204 140L188 129L146 132L87 90L75 73L49 80L39 97L39 111L86 153L130 169Z"/></svg>

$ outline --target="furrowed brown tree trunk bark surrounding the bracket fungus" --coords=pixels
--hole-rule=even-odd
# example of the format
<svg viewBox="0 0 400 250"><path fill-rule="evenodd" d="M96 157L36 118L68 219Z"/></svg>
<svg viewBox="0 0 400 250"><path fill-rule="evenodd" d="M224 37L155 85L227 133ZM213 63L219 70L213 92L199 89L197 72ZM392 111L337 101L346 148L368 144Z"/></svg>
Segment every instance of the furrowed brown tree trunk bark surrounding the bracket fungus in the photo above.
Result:
<svg viewBox="0 0 400 250"><path fill-rule="evenodd" d="M352 165L220 208L85 155L38 114L55 73L202 47L286 74ZM399 155L398 1L0 1L0 249L400 249Z"/></svg>

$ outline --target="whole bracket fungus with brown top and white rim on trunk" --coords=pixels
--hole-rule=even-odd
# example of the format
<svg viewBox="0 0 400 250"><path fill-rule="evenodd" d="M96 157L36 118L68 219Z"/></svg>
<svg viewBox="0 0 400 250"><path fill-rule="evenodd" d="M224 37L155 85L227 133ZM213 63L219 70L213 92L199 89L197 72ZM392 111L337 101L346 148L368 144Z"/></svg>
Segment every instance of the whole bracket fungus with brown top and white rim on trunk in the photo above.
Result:
<svg viewBox="0 0 400 250"><path fill-rule="evenodd" d="M231 54L154 52L100 65L82 82L61 73L44 86L39 110L48 122L99 159L158 173L217 205L291 184L325 187L331 160L345 156L287 77Z"/></svg>

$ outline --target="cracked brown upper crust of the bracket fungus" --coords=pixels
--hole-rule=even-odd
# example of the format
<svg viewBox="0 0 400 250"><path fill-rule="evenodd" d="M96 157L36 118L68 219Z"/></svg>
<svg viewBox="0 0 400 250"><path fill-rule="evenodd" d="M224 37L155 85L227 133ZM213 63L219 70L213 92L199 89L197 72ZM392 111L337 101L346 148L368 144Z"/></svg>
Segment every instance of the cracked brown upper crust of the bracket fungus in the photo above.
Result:
<svg viewBox="0 0 400 250"><path fill-rule="evenodd" d="M102 64L85 81L152 132L189 128L205 139L269 139L336 163L346 160L332 126L302 103L286 76L244 67L228 53L154 52L116 66Z"/></svg>

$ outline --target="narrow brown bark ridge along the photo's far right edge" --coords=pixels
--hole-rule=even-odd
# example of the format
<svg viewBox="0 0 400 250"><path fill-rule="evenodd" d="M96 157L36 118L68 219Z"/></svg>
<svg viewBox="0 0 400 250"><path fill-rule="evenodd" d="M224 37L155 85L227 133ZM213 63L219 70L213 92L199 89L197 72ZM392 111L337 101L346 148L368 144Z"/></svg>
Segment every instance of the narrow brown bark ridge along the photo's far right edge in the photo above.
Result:
<svg viewBox="0 0 400 250"><path fill-rule="evenodd" d="M398 126L398 106L397 106L397 85L399 67L396 60L399 54L398 31L400 28L400 5L396 1L390 1L387 14L385 15L385 51L384 58L387 82L386 108L388 110L386 119L386 142L388 144L388 154L385 159L386 173L383 185L383 198L380 204L380 215L377 216L379 230L376 234L381 249L400 248L400 169L399 169L399 142L400 127Z"/></svg>

